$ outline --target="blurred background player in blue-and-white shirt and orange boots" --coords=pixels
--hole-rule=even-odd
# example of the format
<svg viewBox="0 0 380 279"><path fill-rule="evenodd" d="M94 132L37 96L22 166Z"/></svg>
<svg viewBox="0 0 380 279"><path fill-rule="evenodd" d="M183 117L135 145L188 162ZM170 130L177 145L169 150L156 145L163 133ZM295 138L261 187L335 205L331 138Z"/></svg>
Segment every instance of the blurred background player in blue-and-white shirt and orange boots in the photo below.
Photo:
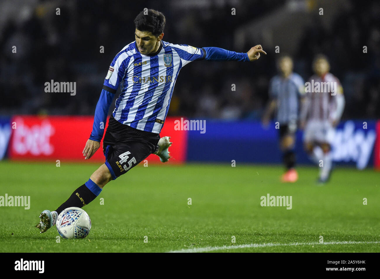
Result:
<svg viewBox="0 0 380 279"><path fill-rule="evenodd" d="M279 75L272 77L269 84L269 102L264 112L263 125L268 126L272 113L276 110L279 122L280 149L286 172L282 182L296 182L298 173L294 168L295 132L297 131L299 100L304 95L304 80L293 73L293 60L283 56L277 61Z"/></svg>

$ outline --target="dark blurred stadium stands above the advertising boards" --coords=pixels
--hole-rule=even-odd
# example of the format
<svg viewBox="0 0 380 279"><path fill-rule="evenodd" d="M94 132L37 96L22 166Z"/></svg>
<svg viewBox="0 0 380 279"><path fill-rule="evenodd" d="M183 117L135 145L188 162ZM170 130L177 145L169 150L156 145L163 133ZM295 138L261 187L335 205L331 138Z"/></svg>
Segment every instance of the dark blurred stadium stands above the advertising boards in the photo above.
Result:
<svg viewBox="0 0 380 279"><path fill-rule="evenodd" d="M181 70L169 115L259 120L276 73L275 46L280 46L280 54L294 57L294 70L304 79L315 54L329 57L331 72L344 87L343 119L380 117L380 4L339 0L3 0L1 114L92 115L108 66L134 41L133 19L144 8L165 14L164 41L237 52L261 44L268 52L255 63L190 63ZM45 93L44 82L51 79L76 82L76 96Z"/></svg>

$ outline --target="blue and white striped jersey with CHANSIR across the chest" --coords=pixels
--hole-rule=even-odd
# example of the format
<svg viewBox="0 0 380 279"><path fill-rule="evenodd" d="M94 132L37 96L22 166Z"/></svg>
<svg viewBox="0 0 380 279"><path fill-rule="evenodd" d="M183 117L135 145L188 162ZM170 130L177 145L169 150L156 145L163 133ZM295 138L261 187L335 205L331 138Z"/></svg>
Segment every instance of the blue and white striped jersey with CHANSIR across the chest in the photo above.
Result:
<svg viewBox="0 0 380 279"><path fill-rule="evenodd" d="M121 87L114 118L135 129L160 133L180 69L205 56L204 49L164 41L149 55L138 51L136 41L125 46L109 66L103 84L111 93Z"/></svg>

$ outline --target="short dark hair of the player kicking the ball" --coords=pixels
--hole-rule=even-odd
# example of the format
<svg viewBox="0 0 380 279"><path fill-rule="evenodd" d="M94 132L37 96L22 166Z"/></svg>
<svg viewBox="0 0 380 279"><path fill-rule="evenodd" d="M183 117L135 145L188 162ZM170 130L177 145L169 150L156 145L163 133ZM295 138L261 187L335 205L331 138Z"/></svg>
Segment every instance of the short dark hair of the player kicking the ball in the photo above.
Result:
<svg viewBox="0 0 380 279"><path fill-rule="evenodd" d="M151 32L154 36L159 36L164 31L166 19L161 12L149 9L141 11L134 22L137 30Z"/></svg>

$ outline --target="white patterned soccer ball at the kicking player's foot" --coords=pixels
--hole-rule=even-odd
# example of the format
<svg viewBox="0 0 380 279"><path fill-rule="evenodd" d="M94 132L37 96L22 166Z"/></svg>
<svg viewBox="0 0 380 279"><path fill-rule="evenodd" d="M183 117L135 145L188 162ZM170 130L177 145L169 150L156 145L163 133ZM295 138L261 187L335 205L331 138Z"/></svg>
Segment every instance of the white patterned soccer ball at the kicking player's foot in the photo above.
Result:
<svg viewBox="0 0 380 279"><path fill-rule="evenodd" d="M63 238L85 238L91 229L91 219L83 209L69 207L58 215L56 226Z"/></svg>

